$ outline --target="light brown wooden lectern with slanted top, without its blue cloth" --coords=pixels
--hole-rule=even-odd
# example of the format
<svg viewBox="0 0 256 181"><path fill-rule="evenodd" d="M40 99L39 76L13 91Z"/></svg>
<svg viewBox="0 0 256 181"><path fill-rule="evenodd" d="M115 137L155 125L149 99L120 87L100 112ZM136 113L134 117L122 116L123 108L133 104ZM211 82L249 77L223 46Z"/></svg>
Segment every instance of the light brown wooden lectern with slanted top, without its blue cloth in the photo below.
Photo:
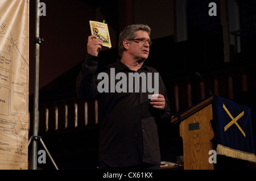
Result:
<svg viewBox="0 0 256 181"><path fill-rule="evenodd" d="M180 121L180 136L183 138L183 157L185 170L212 170L209 151L212 150L214 131L211 121L213 96L202 100L172 119Z"/></svg>

